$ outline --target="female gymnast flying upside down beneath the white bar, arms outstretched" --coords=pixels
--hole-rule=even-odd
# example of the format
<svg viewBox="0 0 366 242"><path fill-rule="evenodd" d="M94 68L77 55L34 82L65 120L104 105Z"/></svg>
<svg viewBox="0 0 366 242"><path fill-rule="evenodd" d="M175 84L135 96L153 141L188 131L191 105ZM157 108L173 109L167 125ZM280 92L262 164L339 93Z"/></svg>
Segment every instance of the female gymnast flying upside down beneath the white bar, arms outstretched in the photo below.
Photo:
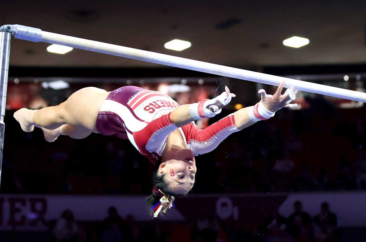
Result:
<svg viewBox="0 0 366 242"><path fill-rule="evenodd" d="M168 95L134 86L107 92L87 87L65 102L40 110L20 109L14 113L25 132L41 128L48 142L59 135L83 139L93 133L129 139L137 150L156 164L153 192L146 200L154 217L173 206L175 197L187 194L194 184L195 155L208 153L231 133L275 115L295 99L294 87L283 95L282 82L274 95L258 91L261 101L200 129L194 120L221 112L235 94L225 92L214 99L179 106Z"/></svg>

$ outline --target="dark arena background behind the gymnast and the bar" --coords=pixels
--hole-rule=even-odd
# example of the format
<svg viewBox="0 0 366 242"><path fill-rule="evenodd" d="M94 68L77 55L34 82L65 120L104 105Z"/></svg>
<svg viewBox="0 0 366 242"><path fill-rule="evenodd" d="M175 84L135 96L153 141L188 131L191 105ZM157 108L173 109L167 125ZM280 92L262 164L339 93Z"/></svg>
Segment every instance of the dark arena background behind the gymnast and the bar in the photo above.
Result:
<svg viewBox="0 0 366 242"><path fill-rule="evenodd" d="M2 4L0 20L365 92L365 5L13 0ZM310 44L284 46L291 36L309 38ZM174 38L192 47L165 49ZM57 105L88 86L111 91L138 85L185 104L219 94L227 85L237 97L222 114L198 123L204 128L258 102L258 89L273 93L274 87L78 49L51 54L47 46L11 40L1 242L364 241L363 103L301 92L298 109L282 109L198 156L190 195L152 220L145 206L152 167L128 140L92 134L47 143L38 129L22 132L14 111ZM61 88L52 86L55 81ZM305 212L293 214L295 201ZM324 202L331 213L321 212ZM55 224L67 209L74 216L68 228L72 236L56 239ZM111 232L112 220L118 226Z"/></svg>

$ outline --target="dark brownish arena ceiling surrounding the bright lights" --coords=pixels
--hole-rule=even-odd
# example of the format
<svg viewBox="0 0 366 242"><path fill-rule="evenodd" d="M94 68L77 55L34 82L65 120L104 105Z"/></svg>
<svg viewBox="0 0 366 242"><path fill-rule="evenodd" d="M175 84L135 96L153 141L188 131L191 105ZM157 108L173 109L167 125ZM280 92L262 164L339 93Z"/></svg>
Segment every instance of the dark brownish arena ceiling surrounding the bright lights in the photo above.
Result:
<svg viewBox="0 0 366 242"><path fill-rule="evenodd" d="M366 1L17 1L2 5L2 24L145 49L190 59L253 67L354 64L366 61ZM310 39L285 47L291 36ZM192 47L164 48L179 38ZM46 51L48 44L12 40L11 66L157 67L158 65L73 50Z"/></svg>

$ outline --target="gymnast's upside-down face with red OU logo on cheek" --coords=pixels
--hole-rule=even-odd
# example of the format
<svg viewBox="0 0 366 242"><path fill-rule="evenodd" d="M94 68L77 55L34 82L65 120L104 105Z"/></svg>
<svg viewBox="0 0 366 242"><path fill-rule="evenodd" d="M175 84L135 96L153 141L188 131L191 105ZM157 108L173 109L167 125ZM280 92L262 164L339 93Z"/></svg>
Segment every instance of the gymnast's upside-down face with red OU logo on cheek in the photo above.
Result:
<svg viewBox="0 0 366 242"><path fill-rule="evenodd" d="M194 185L197 172L193 152L188 148L184 148L178 153L172 153L172 157L167 158L160 164L159 173L165 174L165 179L169 182L169 188L175 194L188 193Z"/></svg>

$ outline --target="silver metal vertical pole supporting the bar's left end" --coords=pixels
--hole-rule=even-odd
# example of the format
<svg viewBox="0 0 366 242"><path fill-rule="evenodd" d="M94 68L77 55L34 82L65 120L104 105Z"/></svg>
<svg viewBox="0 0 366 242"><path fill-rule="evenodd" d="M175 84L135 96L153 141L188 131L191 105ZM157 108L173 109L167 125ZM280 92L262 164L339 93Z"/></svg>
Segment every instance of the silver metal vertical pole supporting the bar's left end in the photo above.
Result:
<svg viewBox="0 0 366 242"><path fill-rule="evenodd" d="M4 131L5 131L5 106L6 91L8 87L8 70L10 57L10 40L11 33L0 32L0 182L1 168L3 165L3 147L4 147Z"/></svg>

